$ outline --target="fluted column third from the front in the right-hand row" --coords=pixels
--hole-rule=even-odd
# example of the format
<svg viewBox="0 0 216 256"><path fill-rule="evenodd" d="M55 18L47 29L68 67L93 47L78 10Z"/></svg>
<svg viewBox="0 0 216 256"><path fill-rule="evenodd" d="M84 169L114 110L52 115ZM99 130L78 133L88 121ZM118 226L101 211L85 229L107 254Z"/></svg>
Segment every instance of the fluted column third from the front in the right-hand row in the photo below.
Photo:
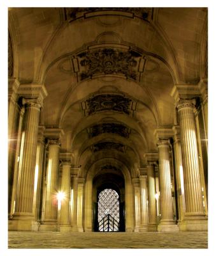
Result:
<svg viewBox="0 0 216 256"><path fill-rule="evenodd" d="M148 163L148 231L157 231L157 202L155 198L155 166Z"/></svg>

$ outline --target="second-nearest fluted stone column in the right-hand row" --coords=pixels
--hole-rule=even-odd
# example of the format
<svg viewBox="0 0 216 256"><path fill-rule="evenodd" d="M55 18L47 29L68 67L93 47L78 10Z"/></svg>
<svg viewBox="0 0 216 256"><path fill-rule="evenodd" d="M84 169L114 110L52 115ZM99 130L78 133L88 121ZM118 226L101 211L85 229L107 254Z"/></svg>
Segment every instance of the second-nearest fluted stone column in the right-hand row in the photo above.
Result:
<svg viewBox="0 0 216 256"><path fill-rule="evenodd" d="M161 198L161 223L158 231L174 231L173 203L169 163L169 140L159 140L159 184Z"/></svg>

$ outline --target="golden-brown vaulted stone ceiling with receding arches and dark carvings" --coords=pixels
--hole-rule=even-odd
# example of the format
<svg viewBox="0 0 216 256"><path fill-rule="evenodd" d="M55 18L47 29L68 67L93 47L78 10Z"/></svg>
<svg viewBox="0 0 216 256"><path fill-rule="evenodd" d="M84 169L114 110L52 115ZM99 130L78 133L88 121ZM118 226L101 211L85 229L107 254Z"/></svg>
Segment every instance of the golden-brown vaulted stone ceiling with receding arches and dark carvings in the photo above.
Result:
<svg viewBox="0 0 216 256"><path fill-rule="evenodd" d="M10 8L9 32L11 76L45 84L44 125L84 166L143 166L173 85L206 76L206 8Z"/></svg>

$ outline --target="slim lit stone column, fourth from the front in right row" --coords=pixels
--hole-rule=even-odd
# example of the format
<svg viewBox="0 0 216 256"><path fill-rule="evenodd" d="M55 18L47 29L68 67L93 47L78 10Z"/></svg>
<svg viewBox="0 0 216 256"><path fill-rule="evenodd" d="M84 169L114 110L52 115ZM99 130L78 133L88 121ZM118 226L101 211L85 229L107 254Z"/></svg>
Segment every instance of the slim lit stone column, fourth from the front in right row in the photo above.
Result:
<svg viewBox="0 0 216 256"><path fill-rule="evenodd" d="M147 175L140 175L140 232L147 231L148 225Z"/></svg>

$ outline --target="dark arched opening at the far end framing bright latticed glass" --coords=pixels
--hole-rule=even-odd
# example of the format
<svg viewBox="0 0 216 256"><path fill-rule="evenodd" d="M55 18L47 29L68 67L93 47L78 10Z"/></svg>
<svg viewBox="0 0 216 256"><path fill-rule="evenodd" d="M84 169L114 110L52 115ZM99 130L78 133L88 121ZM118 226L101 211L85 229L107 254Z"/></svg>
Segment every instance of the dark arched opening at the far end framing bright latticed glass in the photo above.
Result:
<svg viewBox="0 0 216 256"><path fill-rule="evenodd" d="M94 179L96 200L93 202L95 232L125 232L124 179L104 173Z"/></svg>

